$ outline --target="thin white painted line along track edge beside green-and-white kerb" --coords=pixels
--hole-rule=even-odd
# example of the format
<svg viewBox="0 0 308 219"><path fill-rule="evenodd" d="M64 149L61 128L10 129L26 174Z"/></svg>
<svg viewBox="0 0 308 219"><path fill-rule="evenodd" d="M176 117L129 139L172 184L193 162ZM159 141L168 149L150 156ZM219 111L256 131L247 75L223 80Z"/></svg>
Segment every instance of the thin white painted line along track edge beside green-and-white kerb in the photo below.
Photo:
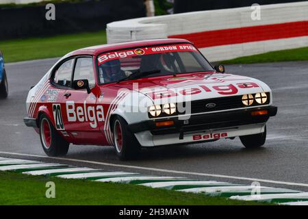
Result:
<svg viewBox="0 0 308 219"><path fill-rule="evenodd" d="M124 165L124 164L110 164L110 163L105 163L105 162L88 161L84 159L73 159L73 158L64 158L64 157L47 157L43 155L30 155L30 154L25 154L25 153L12 153L12 152L5 152L5 151L0 151L0 153L6 154L6 155L19 155L19 156L25 156L25 157L49 158L49 159L56 159L56 160L62 160L62 161L68 161L68 162L79 162L79 163L84 163L84 164L97 164L97 165L103 165L103 166L131 168L131 169L137 169L137 170L151 170L151 171L157 171L157 172L168 172L168 173L175 173L175 174L182 174L182 175L195 175L195 176L202 176L202 177L218 177L218 178L224 178L224 179L258 181L258 182L263 182L263 183L272 183L272 184L279 184L279 185L294 185L294 186L301 186L301 187L308 188L307 183L294 183L294 182L286 182L286 181L274 181L270 179L257 179L257 178L249 178L249 177L235 177L235 176L229 176L229 175L216 175L216 174L209 174L209 173L203 173L203 172L186 172L186 171L179 171L179 170L167 170L167 169L161 169L161 168L149 168L149 167L143 167L143 166L130 166L130 165Z"/></svg>

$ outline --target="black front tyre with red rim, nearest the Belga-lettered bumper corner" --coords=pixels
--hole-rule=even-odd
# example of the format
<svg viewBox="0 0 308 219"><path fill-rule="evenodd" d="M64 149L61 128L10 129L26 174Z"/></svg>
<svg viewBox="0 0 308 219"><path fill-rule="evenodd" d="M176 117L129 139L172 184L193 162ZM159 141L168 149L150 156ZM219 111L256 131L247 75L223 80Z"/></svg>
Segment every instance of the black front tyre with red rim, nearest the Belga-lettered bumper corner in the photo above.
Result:
<svg viewBox="0 0 308 219"><path fill-rule="evenodd" d="M114 146L120 160L136 159L140 155L141 146L136 137L127 129L127 122L120 116L112 123Z"/></svg>

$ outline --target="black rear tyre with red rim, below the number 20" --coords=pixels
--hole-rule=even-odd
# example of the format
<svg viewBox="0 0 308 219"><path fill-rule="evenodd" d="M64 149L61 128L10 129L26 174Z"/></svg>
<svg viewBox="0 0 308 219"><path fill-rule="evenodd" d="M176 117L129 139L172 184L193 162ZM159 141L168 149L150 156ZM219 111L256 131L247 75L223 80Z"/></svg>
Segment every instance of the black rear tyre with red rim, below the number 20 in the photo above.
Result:
<svg viewBox="0 0 308 219"><path fill-rule="evenodd" d="M45 153L49 156L66 155L68 152L69 143L57 133L45 115L40 117L40 142Z"/></svg>

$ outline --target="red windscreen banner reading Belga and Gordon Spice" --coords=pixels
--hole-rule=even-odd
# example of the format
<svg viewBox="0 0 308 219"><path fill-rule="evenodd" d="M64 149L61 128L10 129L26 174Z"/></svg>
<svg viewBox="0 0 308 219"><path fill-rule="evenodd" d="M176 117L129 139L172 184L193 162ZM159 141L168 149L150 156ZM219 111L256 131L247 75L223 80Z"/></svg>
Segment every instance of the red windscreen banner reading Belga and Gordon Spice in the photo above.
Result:
<svg viewBox="0 0 308 219"><path fill-rule="evenodd" d="M164 52L179 52L179 51L193 51L197 52L196 48L192 46L192 44L176 44L176 45L168 45L168 46L160 46L160 47L146 47L146 48L138 48L138 49L129 49L123 51L114 51L110 53L103 53L99 55L98 60L99 64L103 64L104 62L108 62L111 60L116 60L124 57L133 57L136 55L151 55L157 53Z"/></svg>

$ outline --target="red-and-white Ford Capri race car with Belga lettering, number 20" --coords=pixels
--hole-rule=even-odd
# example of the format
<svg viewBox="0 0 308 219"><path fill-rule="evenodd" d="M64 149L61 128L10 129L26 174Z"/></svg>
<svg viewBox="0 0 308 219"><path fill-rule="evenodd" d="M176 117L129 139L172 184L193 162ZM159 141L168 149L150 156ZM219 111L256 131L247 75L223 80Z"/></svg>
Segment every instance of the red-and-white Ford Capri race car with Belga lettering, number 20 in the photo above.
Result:
<svg viewBox="0 0 308 219"><path fill-rule="evenodd" d="M47 155L96 144L129 159L141 147L237 136L262 146L277 107L266 83L213 68L187 40L164 39L68 53L31 88L27 114Z"/></svg>

